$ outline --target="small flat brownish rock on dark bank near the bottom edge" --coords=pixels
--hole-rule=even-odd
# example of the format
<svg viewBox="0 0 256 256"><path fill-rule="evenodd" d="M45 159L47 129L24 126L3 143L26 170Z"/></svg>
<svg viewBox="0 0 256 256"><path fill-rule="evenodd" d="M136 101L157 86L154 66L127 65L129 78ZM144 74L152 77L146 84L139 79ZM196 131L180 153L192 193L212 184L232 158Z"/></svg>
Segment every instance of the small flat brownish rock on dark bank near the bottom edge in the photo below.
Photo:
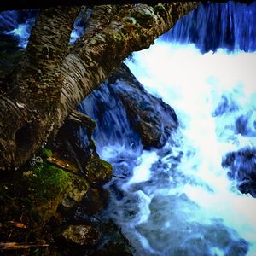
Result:
<svg viewBox="0 0 256 256"><path fill-rule="evenodd" d="M94 246L99 241L101 233L91 225L70 225L61 234L59 239L78 246Z"/></svg>

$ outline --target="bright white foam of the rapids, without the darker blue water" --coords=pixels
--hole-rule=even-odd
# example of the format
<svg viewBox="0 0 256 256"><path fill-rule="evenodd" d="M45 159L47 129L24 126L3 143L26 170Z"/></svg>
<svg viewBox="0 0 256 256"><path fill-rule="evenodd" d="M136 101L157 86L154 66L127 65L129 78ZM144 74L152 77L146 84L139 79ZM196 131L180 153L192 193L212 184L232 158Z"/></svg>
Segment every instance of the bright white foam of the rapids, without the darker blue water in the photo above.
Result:
<svg viewBox="0 0 256 256"><path fill-rule="evenodd" d="M198 217L197 221L202 222L203 216L203 222L207 223L212 219L221 219L224 226L236 230L236 237L249 242L248 255L255 255L256 200L251 195L242 195L235 188L236 184L228 179L221 160L227 152L248 145L256 146L255 137L241 136L234 131L237 117L249 111L253 112L253 116L247 125L251 125L249 128L255 131L256 55L244 52L228 54L224 49L219 49L215 54L201 55L192 44L166 44L158 40L149 49L134 53L133 59L126 61L126 64L149 92L162 97L175 109L181 123L183 152L189 152L190 148L195 150L193 156L183 157L177 172L194 177L200 183L180 183L175 188L170 183L169 195L184 193L200 207L197 212L190 212L193 218ZM214 117L212 113L223 95L233 101L237 109ZM125 184L125 189L147 178L154 178L148 175L149 172L141 178L145 166L147 158L137 166L135 175ZM147 184L144 189L147 190ZM151 186L148 191L151 199L160 191L163 193L160 184L159 188L152 189ZM184 209L180 210L180 216L183 216ZM160 214L165 216L166 213ZM149 234L145 236L150 237ZM215 252L212 255L220 255L221 251L219 247L214 249L212 246L212 252Z"/></svg>

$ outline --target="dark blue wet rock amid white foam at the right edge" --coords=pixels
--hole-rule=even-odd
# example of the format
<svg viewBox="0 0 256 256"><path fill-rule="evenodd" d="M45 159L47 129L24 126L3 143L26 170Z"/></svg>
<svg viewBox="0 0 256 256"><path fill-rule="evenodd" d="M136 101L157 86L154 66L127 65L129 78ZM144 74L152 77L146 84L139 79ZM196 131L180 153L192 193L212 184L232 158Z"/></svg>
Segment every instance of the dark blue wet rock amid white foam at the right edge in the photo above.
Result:
<svg viewBox="0 0 256 256"><path fill-rule="evenodd" d="M222 166L228 168L228 176L237 181L242 193L256 197L256 148L241 148L226 154Z"/></svg>

